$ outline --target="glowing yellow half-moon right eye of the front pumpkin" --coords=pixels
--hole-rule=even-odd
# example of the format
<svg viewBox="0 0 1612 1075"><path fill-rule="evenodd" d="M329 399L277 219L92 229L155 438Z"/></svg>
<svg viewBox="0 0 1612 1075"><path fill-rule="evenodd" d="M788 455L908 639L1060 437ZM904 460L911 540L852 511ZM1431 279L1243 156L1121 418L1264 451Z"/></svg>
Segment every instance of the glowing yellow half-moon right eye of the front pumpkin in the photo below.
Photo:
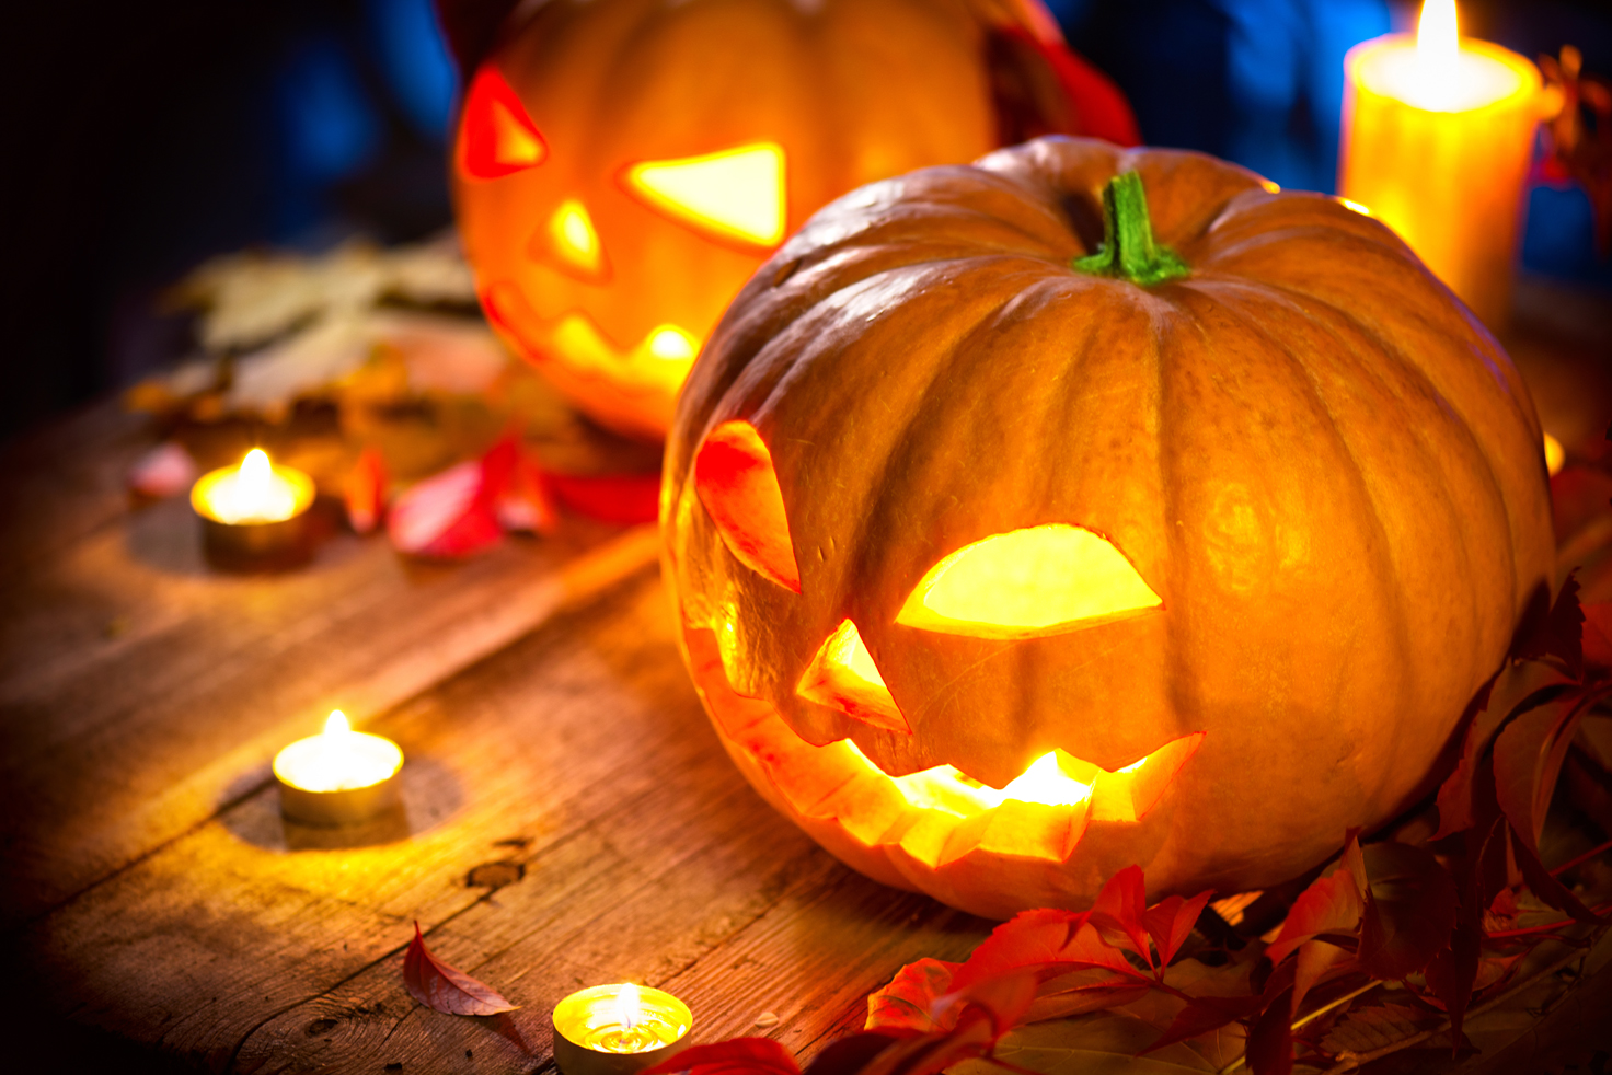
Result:
<svg viewBox="0 0 1612 1075"><path fill-rule="evenodd" d="M1162 608L1112 542L1053 524L995 533L929 569L898 624L983 638L1033 638Z"/></svg>

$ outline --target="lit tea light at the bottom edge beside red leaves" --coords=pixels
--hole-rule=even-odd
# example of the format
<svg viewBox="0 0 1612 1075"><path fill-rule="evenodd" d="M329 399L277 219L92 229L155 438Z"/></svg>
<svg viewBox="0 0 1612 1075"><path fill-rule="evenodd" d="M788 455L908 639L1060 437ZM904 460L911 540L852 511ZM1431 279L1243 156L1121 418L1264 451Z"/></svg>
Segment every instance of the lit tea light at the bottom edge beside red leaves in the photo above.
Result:
<svg viewBox="0 0 1612 1075"><path fill-rule="evenodd" d="M680 1049L693 1023L671 993L596 985L555 1006L555 1064L563 1075L632 1075Z"/></svg>

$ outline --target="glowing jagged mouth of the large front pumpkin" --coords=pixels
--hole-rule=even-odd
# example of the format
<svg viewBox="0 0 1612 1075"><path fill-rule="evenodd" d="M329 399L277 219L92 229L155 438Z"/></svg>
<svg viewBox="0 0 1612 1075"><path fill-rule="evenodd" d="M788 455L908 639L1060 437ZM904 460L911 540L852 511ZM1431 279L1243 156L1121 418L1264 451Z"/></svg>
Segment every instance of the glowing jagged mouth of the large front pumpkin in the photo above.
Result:
<svg viewBox="0 0 1612 1075"><path fill-rule="evenodd" d="M930 869L970 851L1066 862L1086 825L1138 822L1151 811L1203 732L1165 743L1119 770L1056 749L996 790L953 766L891 777L851 740L812 746L772 703L733 690L709 629L685 627L695 685L740 767L806 819L832 820L864 846L899 845Z"/></svg>

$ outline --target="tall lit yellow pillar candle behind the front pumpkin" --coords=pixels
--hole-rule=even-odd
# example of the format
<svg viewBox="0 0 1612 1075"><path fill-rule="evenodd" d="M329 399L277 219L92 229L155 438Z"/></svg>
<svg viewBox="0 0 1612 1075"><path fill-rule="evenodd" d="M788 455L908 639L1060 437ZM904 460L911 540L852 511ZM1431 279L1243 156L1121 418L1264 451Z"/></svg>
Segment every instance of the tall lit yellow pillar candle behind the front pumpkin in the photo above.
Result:
<svg viewBox="0 0 1612 1075"><path fill-rule="evenodd" d="M1544 116L1539 69L1456 31L1456 0L1427 0L1415 37L1343 60L1338 193L1364 205L1491 329L1510 313L1522 189Z"/></svg>

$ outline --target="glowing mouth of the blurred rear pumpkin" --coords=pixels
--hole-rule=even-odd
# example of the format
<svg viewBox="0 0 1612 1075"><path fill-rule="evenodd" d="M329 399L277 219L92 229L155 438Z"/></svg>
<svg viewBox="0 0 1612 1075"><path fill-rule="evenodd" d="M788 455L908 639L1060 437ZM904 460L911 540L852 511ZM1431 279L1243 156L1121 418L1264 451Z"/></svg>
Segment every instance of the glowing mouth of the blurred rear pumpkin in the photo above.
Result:
<svg viewBox="0 0 1612 1075"><path fill-rule="evenodd" d="M488 287L482 308L527 358L542 363L558 355L574 372L604 376L616 384L642 384L675 393L700 353L700 338L675 324L656 326L637 345L624 348L580 309L553 319L540 318L521 288L509 282Z"/></svg>

